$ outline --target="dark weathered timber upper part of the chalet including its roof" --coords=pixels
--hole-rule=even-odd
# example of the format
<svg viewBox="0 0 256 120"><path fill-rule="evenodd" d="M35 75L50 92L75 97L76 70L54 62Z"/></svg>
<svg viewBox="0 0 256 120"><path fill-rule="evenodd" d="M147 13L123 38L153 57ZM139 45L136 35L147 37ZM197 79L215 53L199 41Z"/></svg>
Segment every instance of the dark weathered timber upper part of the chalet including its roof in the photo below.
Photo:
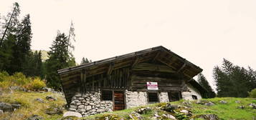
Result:
<svg viewBox="0 0 256 120"><path fill-rule="evenodd" d="M147 88L148 81L157 83L158 90L152 91L159 93L178 92L181 97L181 92L189 91L186 84L191 82L202 94L205 90L192 79L200 72L199 66L163 46L58 70L67 104L77 92L103 90L113 91L113 102L118 103L115 96L125 101L124 91L151 91ZM100 93L103 96L104 93ZM169 99L171 101L170 96Z"/></svg>

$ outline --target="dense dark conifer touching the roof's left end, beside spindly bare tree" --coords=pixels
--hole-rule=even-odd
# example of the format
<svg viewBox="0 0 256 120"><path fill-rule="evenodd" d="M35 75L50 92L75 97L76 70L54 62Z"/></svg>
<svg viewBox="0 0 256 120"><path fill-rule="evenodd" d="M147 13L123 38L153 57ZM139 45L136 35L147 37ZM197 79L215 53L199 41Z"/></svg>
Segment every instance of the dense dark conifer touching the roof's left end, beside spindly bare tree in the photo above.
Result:
<svg viewBox="0 0 256 120"><path fill-rule="evenodd" d="M70 47L69 39L64 33L58 32L52 47L50 47L51 51L48 52L49 59L46 61L47 84L56 90L61 90L61 81L57 70L75 66L75 58L68 51L68 47Z"/></svg>

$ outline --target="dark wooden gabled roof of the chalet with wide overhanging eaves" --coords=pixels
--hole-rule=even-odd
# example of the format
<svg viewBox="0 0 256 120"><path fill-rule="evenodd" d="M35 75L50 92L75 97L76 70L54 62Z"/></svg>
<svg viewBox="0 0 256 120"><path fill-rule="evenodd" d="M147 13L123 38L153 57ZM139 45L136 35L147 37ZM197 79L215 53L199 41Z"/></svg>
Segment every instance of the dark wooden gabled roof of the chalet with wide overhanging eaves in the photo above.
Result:
<svg viewBox="0 0 256 120"><path fill-rule="evenodd" d="M135 66L136 64L145 61L160 61L171 69L174 69L177 73L184 74L187 79L191 79L202 72L202 69L199 66L192 64L190 61L187 61L169 49L166 49L163 46L156 46L151 49L144 49L142 51L94 61L80 66L60 69L58 70L58 74L65 75L85 70L88 77L95 74L108 73L113 69L120 69L125 66Z"/></svg>

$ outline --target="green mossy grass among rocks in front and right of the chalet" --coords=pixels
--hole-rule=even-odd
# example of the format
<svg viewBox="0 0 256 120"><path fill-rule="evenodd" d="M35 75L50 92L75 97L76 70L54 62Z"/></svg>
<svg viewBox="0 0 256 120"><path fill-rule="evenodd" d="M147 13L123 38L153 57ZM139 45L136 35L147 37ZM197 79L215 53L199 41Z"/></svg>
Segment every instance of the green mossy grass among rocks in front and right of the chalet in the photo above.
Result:
<svg viewBox="0 0 256 120"><path fill-rule="evenodd" d="M196 101L191 101L191 109L187 109L192 112L193 116L190 118L194 118L196 116L202 115L202 114L216 114L219 116L219 119L236 119L236 120L252 120L253 117L256 119L256 109L252 109L248 106L250 103L256 103L255 99L251 98L214 98L214 99L202 99L206 101L212 101L215 105L214 106L205 106L202 104L196 104ZM221 104L219 101L224 100L227 101L227 104ZM175 101L171 102L171 104L177 104L184 106L182 104L184 100L181 101ZM240 104L235 103L235 101L240 101ZM152 119L153 114L157 112L158 114L166 114L168 112L162 111L160 109L157 109L158 106L163 106L163 103L160 104L149 104L147 105L148 107L151 107L152 111L148 114L143 114L144 119ZM145 107L147 107L145 106ZM245 106L245 109L237 109L238 106ZM128 115L131 114L132 111L135 111L138 109L132 108L132 109L125 109L122 111L113 111L110 113L105 113L105 114L97 114L94 116L87 116L83 119L86 120L93 120L93 119L101 119L103 116L106 116L108 114L115 114L120 116L120 118L123 119L128 119ZM178 109L176 111L179 111L181 109ZM171 113L168 113L171 114ZM175 114L173 114L175 116ZM190 119L189 118L189 119ZM199 119L196 119L199 120Z"/></svg>

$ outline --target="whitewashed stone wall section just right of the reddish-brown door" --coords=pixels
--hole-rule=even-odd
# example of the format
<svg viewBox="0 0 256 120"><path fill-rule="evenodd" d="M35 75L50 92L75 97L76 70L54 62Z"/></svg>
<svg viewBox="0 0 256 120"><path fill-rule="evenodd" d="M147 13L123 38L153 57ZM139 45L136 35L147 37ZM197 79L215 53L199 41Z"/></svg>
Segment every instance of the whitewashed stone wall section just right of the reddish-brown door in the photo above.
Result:
<svg viewBox="0 0 256 120"><path fill-rule="evenodd" d="M148 97L145 91L125 91L126 109L134 106L148 104Z"/></svg>

